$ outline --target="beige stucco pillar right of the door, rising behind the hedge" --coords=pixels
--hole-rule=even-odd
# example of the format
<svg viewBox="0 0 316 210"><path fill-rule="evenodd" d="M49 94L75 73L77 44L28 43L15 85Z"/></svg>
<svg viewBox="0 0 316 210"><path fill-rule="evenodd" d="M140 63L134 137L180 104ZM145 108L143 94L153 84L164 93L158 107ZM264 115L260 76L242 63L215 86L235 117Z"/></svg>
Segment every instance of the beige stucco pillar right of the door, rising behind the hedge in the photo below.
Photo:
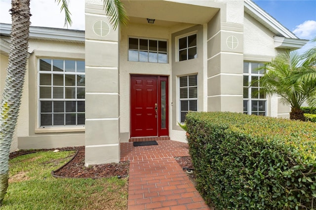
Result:
<svg viewBox="0 0 316 210"><path fill-rule="evenodd" d="M229 5L207 24L207 111L243 111L243 1Z"/></svg>

